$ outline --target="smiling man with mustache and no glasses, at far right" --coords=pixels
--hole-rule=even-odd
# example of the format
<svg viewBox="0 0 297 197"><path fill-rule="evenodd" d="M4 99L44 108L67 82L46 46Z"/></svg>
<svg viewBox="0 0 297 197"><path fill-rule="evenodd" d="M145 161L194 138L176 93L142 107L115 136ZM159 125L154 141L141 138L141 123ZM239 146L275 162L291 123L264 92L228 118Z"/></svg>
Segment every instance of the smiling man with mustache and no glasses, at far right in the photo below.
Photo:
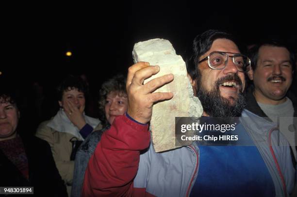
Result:
<svg viewBox="0 0 297 197"><path fill-rule="evenodd" d="M271 40L254 46L249 53L252 70L248 77L253 85L247 90L247 109L279 125L296 161L297 99L288 91L295 70L294 52L284 43Z"/></svg>

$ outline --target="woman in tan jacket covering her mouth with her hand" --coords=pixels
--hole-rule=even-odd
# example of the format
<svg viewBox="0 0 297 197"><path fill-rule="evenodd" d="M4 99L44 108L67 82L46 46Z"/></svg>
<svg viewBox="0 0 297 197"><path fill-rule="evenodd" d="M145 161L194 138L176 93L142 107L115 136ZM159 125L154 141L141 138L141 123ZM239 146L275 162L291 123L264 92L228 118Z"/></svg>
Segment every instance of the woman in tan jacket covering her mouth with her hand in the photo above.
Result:
<svg viewBox="0 0 297 197"><path fill-rule="evenodd" d="M69 76L57 90L60 110L39 125L36 136L49 143L70 195L76 150L84 138L101 125L98 119L84 114L87 86L81 78Z"/></svg>

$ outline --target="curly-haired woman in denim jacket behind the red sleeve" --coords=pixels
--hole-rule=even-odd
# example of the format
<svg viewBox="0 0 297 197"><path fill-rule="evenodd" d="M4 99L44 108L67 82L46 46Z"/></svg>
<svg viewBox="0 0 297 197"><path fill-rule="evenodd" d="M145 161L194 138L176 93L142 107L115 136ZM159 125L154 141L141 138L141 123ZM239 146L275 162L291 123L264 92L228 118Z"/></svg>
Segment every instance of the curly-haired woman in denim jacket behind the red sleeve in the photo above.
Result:
<svg viewBox="0 0 297 197"><path fill-rule="evenodd" d="M125 114L127 109L126 79L122 75L116 75L104 82L99 91L99 113L104 129L91 133L77 152L71 197L82 196L84 172L91 155L100 141L101 134L109 129L116 116Z"/></svg>

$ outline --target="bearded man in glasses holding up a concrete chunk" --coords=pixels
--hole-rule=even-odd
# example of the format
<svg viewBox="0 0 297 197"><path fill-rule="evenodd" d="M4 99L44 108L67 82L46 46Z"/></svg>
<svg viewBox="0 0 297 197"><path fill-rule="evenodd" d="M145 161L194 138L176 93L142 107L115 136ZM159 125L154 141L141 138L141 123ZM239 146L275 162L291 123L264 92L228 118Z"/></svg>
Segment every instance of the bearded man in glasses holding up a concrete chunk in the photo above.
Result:
<svg viewBox="0 0 297 197"><path fill-rule="evenodd" d="M129 68L128 112L116 117L102 134L85 172L82 195L288 196L295 172L288 142L282 135L278 138L274 124L244 110L250 61L235 43L228 33L208 30L194 39L187 63L196 73L192 85L197 88L203 116L240 116L236 132L253 146L199 146L193 142L156 153L148 131L152 106L171 99L173 93L154 90L174 76L143 84L160 67L140 62ZM278 140L284 146L277 147Z"/></svg>

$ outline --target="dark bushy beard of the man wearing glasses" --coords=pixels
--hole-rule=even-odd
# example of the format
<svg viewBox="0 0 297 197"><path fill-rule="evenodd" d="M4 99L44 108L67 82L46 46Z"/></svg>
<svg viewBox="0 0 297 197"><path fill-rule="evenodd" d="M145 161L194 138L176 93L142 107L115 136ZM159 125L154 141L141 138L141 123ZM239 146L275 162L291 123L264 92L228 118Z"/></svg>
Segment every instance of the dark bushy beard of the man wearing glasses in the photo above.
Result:
<svg viewBox="0 0 297 197"><path fill-rule="evenodd" d="M244 94L241 93L241 90L238 94L238 98L234 99L234 103L231 104L228 99L221 97L219 89L220 83L224 81L227 82L228 80L230 81L230 79L234 79L238 84L240 84L240 87L242 87L242 82L240 81L238 75L234 74L218 79L214 83L214 88L211 91L207 91L201 85L201 75L199 72L200 71L198 69L197 96L200 99L203 111L207 115L213 117L230 118L241 116L241 113L246 106L246 99Z"/></svg>

